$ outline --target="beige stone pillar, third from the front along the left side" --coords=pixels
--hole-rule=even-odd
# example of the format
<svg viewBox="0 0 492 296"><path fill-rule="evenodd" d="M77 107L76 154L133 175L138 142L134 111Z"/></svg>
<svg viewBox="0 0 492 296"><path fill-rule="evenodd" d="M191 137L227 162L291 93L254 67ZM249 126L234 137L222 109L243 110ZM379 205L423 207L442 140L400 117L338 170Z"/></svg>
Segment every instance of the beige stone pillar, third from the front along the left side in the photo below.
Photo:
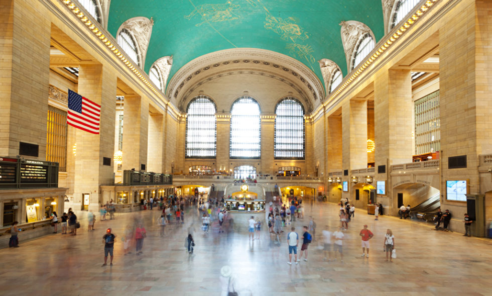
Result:
<svg viewBox="0 0 492 296"><path fill-rule="evenodd" d="M122 168L140 170L141 164L147 164L149 104L144 97L128 95L125 96L123 112Z"/></svg>

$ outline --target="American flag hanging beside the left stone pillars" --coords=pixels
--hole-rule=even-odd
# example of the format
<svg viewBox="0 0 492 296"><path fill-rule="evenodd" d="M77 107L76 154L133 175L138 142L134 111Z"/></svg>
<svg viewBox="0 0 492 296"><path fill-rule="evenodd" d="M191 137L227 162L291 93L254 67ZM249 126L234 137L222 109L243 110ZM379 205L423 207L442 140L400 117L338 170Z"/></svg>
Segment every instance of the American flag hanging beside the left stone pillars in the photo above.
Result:
<svg viewBox="0 0 492 296"><path fill-rule="evenodd" d="M100 117L101 106L75 91L68 90L67 124L92 134L99 134Z"/></svg>

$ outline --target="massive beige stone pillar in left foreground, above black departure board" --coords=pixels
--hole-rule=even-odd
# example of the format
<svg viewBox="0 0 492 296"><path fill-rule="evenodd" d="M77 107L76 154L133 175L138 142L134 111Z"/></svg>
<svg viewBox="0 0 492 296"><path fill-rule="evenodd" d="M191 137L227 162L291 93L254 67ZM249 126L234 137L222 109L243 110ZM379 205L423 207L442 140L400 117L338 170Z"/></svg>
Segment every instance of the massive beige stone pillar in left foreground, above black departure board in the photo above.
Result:
<svg viewBox="0 0 492 296"><path fill-rule="evenodd" d="M19 142L46 159L51 23L43 5L0 4L0 156L19 155ZM36 16L34 16L36 12Z"/></svg>

